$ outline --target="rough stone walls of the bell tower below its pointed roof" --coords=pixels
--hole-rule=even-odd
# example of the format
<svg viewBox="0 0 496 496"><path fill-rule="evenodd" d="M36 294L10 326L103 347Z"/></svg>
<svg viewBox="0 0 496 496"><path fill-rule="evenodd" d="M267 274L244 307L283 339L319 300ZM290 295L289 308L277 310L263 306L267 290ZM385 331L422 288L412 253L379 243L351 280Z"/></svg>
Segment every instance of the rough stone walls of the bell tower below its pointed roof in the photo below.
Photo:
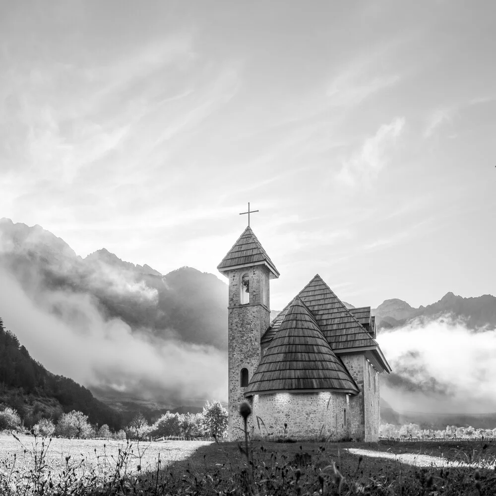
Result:
<svg viewBox="0 0 496 496"><path fill-rule="evenodd" d="M241 277L249 275L249 303L241 304ZM260 337L269 326L269 271L264 265L231 270L229 277L229 438L242 438L243 421L238 410L245 399L241 370L248 381L260 362ZM266 305L262 303L265 299ZM249 417L250 423L252 417ZM251 428L251 425L249 426ZM240 428L240 429L237 429Z"/></svg>

